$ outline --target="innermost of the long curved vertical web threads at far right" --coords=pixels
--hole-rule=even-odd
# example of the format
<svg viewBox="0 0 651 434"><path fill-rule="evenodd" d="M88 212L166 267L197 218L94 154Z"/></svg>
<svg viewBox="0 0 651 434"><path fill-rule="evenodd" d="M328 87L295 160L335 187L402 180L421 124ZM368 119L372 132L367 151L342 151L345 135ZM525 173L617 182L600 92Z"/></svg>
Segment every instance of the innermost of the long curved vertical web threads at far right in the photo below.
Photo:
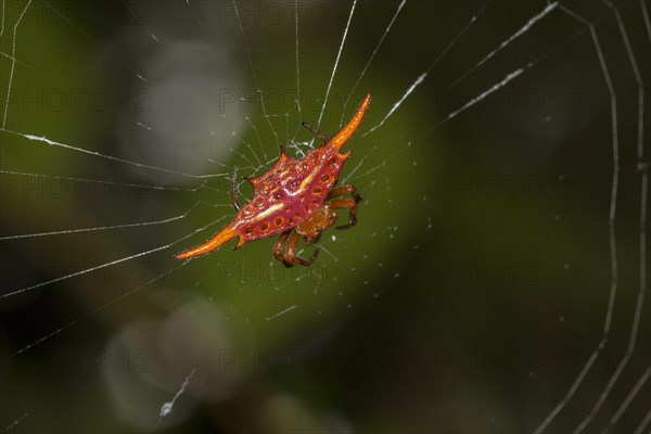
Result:
<svg viewBox="0 0 651 434"><path fill-rule="evenodd" d="M564 5L560 5L563 12L569 14L570 16L578 20L580 23L586 25L592 38L592 44L595 50L597 51L597 55L599 58L599 64L601 66L601 72L603 74L603 78L605 80L608 91L611 100L611 125L612 125L612 148L613 148L613 178L612 178L612 189L611 189L611 199L610 199L610 212L609 212L609 240L610 240L610 256L611 256L611 288L610 288L610 296L608 308L605 312L605 320L603 324L603 333L597 347L592 350L592 354L588 358L588 361L584 365L577 378L574 380L572 386L565 394L565 396L559 401L559 404L552 409L552 411L547 416L547 418L542 421L540 426L538 426L535 431L536 434L541 433L547 425L558 416L558 413L563 410L565 405L572 399L576 390L580 386L584 379L592 368L592 365L601 354L602 349L608 344L608 334L610 332L611 318L614 309L615 297L617 293L617 251L616 251L616 238L615 238L615 209L617 202L617 186L618 186L618 174L620 174L620 159L618 159L618 143L617 143L617 104L615 98L614 87L611 80L610 73L608 71L608 66L605 64L605 59L603 56L603 52L601 50L601 46L599 43L599 38L597 37L597 33L595 30L595 26L585 20L583 16L576 14L572 10L567 9Z"/></svg>

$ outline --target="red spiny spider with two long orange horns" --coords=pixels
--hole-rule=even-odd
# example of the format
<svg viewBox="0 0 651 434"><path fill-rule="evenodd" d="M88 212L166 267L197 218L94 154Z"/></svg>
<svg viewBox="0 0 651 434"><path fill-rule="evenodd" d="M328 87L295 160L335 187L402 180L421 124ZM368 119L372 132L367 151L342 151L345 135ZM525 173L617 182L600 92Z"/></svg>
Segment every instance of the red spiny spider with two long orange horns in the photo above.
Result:
<svg viewBox="0 0 651 434"><path fill-rule="evenodd" d="M177 259L188 259L212 252L228 241L239 238L234 248L250 241L280 233L273 246L273 256L286 267L308 266L319 255L319 248L309 259L296 256L301 237L305 244L314 244L321 232L336 221L336 209L348 209L349 221L336 229L348 229L357 224L357 203L361 196L352 184L333 189L344 162L350 152L340 153L355 133L371 102L369 92L357 112L332 139L307 123L302 125L323 141L303 159L290 158L280 146L280 157L273 166L257 178L244 179L254 189L253 199L243 206L238 204L237 179L232 177L231 202L238 212L224 229L205 243L179 253ZM341 199L349 194L353 199ZM288 241L289 240L289 241ZM285 246L286 243L286 246ZM283 252L284 251L284 252Z"/></svg>

